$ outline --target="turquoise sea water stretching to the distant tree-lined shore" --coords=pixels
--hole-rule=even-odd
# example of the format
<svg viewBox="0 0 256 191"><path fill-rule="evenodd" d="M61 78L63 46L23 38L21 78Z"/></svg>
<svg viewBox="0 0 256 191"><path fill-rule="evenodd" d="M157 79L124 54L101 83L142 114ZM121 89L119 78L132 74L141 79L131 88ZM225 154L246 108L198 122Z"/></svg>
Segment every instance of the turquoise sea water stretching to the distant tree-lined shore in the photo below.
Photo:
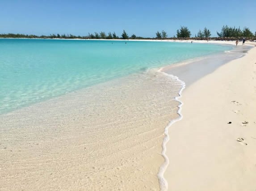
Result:
<svg viewBox="0 0 256 191"><path fill-rule="evenodd" d="M148 68L229 49L175 42L0 39L0 114Z"/></svg>

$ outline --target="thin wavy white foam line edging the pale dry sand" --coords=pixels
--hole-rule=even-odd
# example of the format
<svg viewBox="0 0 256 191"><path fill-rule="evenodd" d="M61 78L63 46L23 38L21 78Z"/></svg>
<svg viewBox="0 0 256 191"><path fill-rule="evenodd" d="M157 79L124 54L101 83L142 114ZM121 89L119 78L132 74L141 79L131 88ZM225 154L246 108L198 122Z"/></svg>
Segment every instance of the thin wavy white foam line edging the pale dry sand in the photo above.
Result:
<svg viewBox="0 0 256 191"><path fill-rule="evenodd" d="M163 73L164 73L164 72L163 72ZM163 155L163 157L164 157L164 163L160 166L159 172L158 172L158 174L157 174L157 178L158 178L158 180L159 180L159 185L160 185L160 190L161 190L161 191L167 191L167 190L168 190L168 183L167 183L166 179L164 179L164 172L165 172L166 168L167 168L168 165L169 165L169 158L168 158L167 155L165 154L165 153L166 153L166 144L167 144L167 142L170 140L170 137L169 137L169 134L168 134L168 129L169 129L169 127L170 127L173 123L175 123L175 122L177 122L177 121L180 121L180 120L183 118L182 114L180 113L180 111L181 111L181 106L183 105L183 102L181 102L181 101L179 100L179 98L181 98L182 90L185 89L185 82L184 82L184 81L181 81L178 77L176 77L176 76L174 76L174 75L171 75L171 74L168 74L168 73L165 73L165 74L167 74L168 76L172 77L173 79L176 79L177 81L180 81L182 87L180 88L179 96L177 96L177 97L174 98L174 100L176 100L177 102L180 102L180 105L178 106L179 109L178 109L178 111L177 111L177 113L179 114L179 117L176 118L176 119L173 119L172 121L170 121L170 122L168 123L168 125L164 128L164 135L165 135L165 136L164 136L164 140L163 140L163 142L162 142L162 148L163 148L163 150L162 150L162 153L161 153L161 154Z"/></svg>

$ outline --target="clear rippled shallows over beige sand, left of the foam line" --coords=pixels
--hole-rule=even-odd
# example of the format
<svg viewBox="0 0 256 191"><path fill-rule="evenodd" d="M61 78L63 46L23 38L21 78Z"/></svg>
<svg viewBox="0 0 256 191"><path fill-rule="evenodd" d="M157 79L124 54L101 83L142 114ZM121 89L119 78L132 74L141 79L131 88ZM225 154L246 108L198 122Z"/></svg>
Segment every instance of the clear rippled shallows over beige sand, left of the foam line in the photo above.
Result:
<svg viewBox="0 0 256 191"><path fill-rule="evenodd" d="M0 190L159 190L180 87L151 70L0 115Z"/></svg>

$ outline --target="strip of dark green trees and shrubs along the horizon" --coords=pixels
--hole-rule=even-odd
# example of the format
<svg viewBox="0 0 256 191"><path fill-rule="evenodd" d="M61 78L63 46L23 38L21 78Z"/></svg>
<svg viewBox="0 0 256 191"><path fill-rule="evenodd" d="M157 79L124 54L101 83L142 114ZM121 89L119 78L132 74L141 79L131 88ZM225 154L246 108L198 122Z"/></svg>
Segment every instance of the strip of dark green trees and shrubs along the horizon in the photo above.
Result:
<svg viewBox="0 0 256 191"><path fill-rule="evenodd" d="M223 26L221 28L220 32L217 32L218 37L211 37L211 32L206 27L203 30L199 30L198 33L195 35L195 37L191 37L191 32L189 31L189 28L186 26L181 26L176 31L176 37L168 37L167 32L162 30L162 32L157 31L155 33L155 38L144 38L144 37L138 37L134 33L129 37L128 33L126 33L125 30L123 30L123 33L121 37L118 37L115 32L111 33L105 33L101 31L100 33L94 32L94 33L88 33L86 36L76 36L72 34L50 34L49 36L37 36L37 35L27 35L27 34L0 34L0 38L60 38L60 39L216 39L216 40L225 40L225 39L236 39L236 38L243 38L246 37L247 39L253 39L256 40L256 32L253 34L252 31L248 27L244 27L243 30L240 29L240 27L228 27Z"/></svg>

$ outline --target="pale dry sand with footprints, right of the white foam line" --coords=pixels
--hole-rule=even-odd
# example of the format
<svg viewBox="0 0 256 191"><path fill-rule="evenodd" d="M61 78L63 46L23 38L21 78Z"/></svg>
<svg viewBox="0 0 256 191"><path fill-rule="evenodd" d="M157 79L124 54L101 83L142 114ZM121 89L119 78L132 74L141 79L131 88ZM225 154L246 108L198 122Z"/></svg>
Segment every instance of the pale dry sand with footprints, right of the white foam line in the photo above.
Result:
<svg viewBox="0 0 256 191"><path fill-rule="evenodd" d="M256 47L194 82L180 101L183 119L169 128L168 190L255 191Z"/></svg>

